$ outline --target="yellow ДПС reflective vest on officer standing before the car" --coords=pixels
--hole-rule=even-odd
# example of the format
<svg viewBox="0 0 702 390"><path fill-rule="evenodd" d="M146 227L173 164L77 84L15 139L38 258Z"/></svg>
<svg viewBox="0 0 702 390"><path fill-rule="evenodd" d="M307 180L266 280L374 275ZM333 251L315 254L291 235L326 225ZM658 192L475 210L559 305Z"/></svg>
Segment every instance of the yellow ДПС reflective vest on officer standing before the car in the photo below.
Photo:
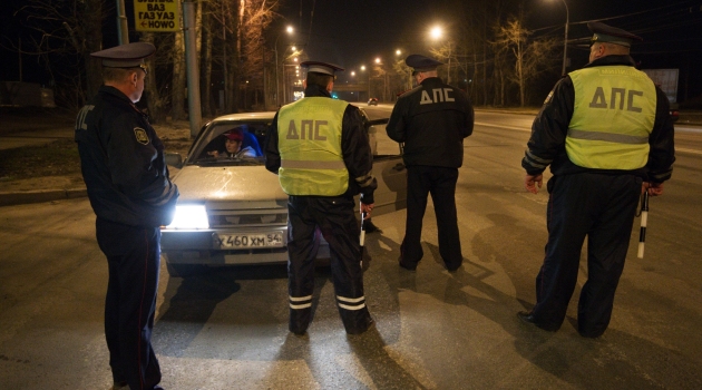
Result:
<svg viewBox="0 0 702 390"><path fill-rule="evenodd" d="M348 105L306 97L281 108L277 176L285 194L338 196L347 192L349 170L341 150L341 126Z"/></svg>

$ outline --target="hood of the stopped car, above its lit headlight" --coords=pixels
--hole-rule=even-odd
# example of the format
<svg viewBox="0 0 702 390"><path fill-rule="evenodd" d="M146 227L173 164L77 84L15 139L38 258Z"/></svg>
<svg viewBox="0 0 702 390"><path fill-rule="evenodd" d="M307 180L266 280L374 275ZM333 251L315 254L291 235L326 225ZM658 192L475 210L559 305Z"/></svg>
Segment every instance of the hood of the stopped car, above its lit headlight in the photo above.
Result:
<svg viewBox="0 0 702 390"><path fill-rule="evenodd" d="M277 175L264 166L185 166L173 182L181 192L181 203L287 201Z"/></svg>

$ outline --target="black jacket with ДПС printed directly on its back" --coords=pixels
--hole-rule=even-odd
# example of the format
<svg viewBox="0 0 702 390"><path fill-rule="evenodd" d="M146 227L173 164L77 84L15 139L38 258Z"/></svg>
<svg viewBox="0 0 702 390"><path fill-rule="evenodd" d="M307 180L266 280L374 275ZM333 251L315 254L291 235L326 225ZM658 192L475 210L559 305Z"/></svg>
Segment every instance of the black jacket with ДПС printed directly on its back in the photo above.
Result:
<svg viewBox="0 0 702 390"><path fill-rule="evenodd" d="M430 77L402 94L392 109L388 136L404 143L404 164L458 168L464 138L472 134L474 110L462 90Z"/></svg>

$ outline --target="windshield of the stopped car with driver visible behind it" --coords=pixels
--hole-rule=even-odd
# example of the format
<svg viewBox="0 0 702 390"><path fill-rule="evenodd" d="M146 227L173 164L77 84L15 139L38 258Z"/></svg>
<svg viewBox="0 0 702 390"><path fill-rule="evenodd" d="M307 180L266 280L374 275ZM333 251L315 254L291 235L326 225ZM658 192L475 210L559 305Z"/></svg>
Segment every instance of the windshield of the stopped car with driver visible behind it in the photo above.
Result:
<svg viewBox="0 0 702 390"><path fill-rule="evenodd" d="M271 120L213 123L203 130L188 165L264 165L263 140Z"/></svg>

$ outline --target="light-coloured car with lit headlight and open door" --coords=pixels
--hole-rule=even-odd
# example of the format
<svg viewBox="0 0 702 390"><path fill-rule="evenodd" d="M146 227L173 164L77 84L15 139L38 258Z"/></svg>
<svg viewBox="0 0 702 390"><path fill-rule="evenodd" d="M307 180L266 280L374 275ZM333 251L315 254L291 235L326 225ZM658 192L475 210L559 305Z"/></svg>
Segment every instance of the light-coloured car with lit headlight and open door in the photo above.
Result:
<svg viewBox="0 0 702 390"><path fill-rule="evenodd" d="M170 275L185 276L203 265L287 261L287 195L277 175L265 169L262 153L274 115L218 117L199 130L184 160L177 154L167 155L168 164L181 168L174 177L181 192L176 214L170 225L162 227L162 254ZM363 116L378 179L373 215L404 208L407 169L400 148L384 142L383 148L392 152L378 153L378 137L387 137L383 124L388 119L370 120L365 113ZM244 131L242 149L251 147L255 157L252 153L240 158L213 156L213 150L224 147L223 134L234 128ZM358 203L357 197L357 208ZM318 257L329 257L323 240Z"/></svg>

